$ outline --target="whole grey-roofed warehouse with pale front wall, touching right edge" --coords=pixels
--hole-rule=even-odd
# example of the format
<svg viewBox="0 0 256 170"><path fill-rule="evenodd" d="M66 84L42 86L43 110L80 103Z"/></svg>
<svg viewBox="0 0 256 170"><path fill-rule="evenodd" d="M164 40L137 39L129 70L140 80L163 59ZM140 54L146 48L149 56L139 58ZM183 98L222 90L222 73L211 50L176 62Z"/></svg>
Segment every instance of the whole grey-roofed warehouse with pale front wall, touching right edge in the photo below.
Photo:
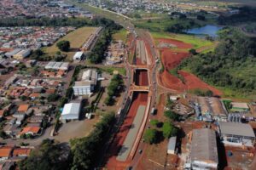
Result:
<svg viewBox="0 0 256 170"><path fill-rule="evenodd" d="M241 122L219 122L218 133L226 145L253 146L255 133L251 125Z"/></svg>

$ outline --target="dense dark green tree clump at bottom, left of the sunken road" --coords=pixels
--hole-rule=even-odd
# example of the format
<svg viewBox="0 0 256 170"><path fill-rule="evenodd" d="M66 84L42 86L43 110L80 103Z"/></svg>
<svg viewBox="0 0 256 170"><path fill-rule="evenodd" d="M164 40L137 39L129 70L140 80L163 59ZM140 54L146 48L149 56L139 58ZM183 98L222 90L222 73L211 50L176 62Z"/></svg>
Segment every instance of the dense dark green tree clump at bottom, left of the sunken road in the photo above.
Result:
<svg viewBox="0 0 256 170"><path fill-rule="evenodd" d="M94 169L102 156L102 148L108 142L109 131L113 126L113 113L105 114L102 121L96 123L94 130L85 138L71 140L73 163L72 169Z"/></svg>

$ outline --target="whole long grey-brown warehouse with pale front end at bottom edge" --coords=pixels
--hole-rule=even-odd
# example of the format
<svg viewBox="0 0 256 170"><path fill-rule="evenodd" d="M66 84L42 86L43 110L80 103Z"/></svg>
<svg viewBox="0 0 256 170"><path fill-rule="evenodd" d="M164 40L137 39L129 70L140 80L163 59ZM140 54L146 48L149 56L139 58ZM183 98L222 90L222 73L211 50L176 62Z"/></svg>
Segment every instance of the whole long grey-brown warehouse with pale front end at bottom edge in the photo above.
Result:
<svg viewBox="0 0 256 170"><path fill-rule="evenodd" d="M193 170L218 169L216 133L212 129L193 130L190 166Z"/></svg>

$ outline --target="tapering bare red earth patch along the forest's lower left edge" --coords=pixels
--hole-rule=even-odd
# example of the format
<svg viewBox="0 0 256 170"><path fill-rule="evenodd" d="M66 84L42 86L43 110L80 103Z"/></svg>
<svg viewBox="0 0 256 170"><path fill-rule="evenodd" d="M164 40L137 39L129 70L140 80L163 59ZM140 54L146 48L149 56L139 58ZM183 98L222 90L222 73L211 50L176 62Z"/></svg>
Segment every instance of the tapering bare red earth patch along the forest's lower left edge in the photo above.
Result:
<svg viewBox="0 0 256 170"><path fill-rule="evenodd" d="M206 82L201 81L199 77L196 77L195 75L189 72L178 71L178 73L185 79L186 86L189 90L200 88L205 90L211 90L214 95L220 96L222 94L217 88L213 88Z"/></svg>

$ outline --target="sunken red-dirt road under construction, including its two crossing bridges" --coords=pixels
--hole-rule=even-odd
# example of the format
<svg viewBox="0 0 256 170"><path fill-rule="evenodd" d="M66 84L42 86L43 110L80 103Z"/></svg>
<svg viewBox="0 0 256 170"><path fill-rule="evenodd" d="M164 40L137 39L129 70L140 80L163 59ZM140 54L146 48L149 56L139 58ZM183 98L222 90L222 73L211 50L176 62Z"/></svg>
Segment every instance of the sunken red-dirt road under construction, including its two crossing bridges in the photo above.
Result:
<svg viewBox="0 0 256 170"><path fill-rule="evenodd" d="M132 35L131 35L132 36ZM143 131L148 122L149 112L155 105L155 59L150 51L150 44L143 37L132 39L136 45L131 50L132 63L126 62L129 71L127 77L131 84L127 89L128 97L119 115L119 130L108 150L108 169L132 167L137 154L142 152ZM140 150L140 151L139 151Z"/></svg>

